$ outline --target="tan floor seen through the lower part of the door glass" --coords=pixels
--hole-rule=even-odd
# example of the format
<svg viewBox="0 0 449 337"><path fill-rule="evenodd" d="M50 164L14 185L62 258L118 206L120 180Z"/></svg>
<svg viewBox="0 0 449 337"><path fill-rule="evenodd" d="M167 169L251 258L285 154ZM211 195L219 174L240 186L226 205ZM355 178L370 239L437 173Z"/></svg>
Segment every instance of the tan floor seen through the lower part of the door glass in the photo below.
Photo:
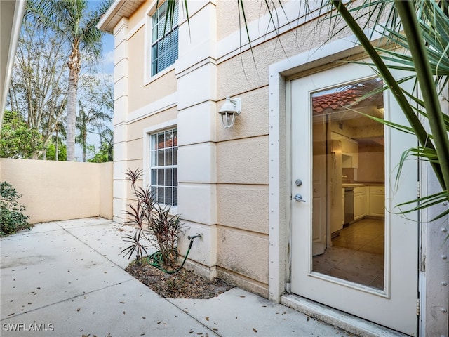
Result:
<svg viewBox="0 0 449 337"><path fill-rule="evenodd" d="M384 220L358 220L313 258L313 271L384 289Z"/></svg>

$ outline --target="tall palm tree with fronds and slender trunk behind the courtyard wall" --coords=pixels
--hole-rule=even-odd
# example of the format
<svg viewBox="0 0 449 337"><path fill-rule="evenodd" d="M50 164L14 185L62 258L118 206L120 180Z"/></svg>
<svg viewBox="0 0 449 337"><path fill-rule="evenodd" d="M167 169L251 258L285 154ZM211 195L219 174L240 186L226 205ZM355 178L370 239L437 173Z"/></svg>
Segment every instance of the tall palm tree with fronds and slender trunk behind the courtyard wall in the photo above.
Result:
<svg viewBox="0 0 449 337"><path fill-rule="evenodd" d="M95 27L111 1L104 1L96 11L88 10L87 0L29 0L28 15L36 22L62 36L70 46L67 91L67 161L75 159L76 102L81 61L96 60L102 51L102 32Z"/></svg>

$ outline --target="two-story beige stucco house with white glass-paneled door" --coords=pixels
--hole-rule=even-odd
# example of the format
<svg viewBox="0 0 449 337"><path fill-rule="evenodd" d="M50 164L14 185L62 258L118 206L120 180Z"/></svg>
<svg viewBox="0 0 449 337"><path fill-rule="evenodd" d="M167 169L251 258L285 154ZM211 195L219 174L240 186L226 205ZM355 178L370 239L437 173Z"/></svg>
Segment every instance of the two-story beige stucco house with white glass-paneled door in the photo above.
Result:
<svg viewBox="0 0 449 337"><path fill-rule="evenodd" d="M250 49L239 1L187 1L188 22L183 2L171 29L156 0L117 0L98 24L115 41L114 220L131 198L124 172L143 169L187 225L180 251L201 234L199 274L350 331L448 336L448 219L393 212L437 187L416 161L395 184L415 139L352 111L406 123L388 92L351 105L382 84L346 62L365 58L351 32L328 41L302 1L274 23L243 1Z"/></svg>

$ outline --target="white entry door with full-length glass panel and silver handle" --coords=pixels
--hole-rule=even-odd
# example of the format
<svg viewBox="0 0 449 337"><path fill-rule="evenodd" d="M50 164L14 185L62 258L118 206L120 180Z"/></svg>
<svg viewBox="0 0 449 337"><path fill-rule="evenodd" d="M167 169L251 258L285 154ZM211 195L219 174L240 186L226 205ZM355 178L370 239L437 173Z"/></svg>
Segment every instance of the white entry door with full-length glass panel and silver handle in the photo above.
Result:
<svg viewBox="0 0 449 337"><path fill-rule="evenodd" d="M417 216L394 213L416 196L415 161L396 180L415 138L366 117L406 124L388 92L358 100L377 86L364 65L290 81L291 290L416 336Z"/></svg>

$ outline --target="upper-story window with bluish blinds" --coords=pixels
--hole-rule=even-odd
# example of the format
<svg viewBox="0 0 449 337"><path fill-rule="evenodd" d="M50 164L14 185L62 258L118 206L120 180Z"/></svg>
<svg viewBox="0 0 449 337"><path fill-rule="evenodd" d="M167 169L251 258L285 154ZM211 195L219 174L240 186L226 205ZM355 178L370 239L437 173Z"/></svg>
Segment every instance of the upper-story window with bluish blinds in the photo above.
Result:
<svg viewBox="0 0 449 337"><path fill-rule="evenodd" d="M174 6L173 22L168 18L166 23L167 6ZM152 15L151 76L173 65L177 60L178 22L177 0L165 1Z"/></svg>

